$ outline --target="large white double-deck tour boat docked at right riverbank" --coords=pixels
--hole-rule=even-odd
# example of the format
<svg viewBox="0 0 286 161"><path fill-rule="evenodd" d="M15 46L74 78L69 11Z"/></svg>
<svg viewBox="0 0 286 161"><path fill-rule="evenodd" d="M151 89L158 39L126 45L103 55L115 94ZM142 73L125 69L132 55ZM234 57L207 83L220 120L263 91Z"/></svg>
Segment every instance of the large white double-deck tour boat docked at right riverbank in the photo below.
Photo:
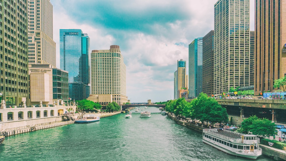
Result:
<svg viewBox="0 0 286 161"><path fill-rule="evenodd" d="M256 159L262 154L257 135L223 129L204 129L202 141L227 154L243 158Z"/></svg>

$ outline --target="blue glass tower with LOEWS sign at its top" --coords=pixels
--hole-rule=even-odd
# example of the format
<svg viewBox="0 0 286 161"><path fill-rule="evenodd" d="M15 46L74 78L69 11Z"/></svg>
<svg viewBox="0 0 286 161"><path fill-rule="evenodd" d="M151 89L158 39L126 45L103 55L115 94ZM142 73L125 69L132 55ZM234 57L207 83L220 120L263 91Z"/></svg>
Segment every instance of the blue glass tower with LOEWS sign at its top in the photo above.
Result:
<svg viewBox="0 0 286 161"><path fill-rule="evenodd" d="M81 29L60 29L60 65L69 73L69 98L90 95L89 37Z"/></svg>

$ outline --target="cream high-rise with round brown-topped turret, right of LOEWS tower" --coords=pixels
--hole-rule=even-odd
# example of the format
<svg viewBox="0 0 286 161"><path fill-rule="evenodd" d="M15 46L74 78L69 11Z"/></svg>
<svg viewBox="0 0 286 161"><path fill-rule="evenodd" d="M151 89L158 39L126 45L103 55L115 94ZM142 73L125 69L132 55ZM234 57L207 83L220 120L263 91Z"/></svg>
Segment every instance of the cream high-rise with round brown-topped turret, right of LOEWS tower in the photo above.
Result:
<svg viewBox="0 0 286 161"><path fill-rule="evenodd" d="M91 53L91 93L112 94L112 101L123 104L126 96L126 66L118 45L107 50L92 50Z"/></svg>

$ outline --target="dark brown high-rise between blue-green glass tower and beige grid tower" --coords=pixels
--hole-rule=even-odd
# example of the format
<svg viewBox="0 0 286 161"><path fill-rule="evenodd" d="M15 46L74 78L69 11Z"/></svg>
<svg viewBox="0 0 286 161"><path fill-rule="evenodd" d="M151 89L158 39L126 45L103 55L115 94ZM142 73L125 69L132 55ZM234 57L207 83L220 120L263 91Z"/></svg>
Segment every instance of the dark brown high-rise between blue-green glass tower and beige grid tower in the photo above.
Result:
<svg viewBox="0 0 286 161"><path fill-rule="evenodd" d="M214 94L214 30L206 34L202 41L202 92Z"/></svg>

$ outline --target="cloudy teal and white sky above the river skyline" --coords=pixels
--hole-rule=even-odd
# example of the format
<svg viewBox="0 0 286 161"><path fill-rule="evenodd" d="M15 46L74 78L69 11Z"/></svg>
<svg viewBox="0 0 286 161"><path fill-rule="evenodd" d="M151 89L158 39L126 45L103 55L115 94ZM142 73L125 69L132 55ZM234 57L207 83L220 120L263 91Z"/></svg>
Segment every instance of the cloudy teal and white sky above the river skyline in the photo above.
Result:
<svg viewBox="0 0 286 161"><path fill-rule="evenodd" d="M214 29L216 2L51 0L57 67L59 29L81 29L90 37L90 53L120 46L131 103L174 99L177 60L186 60L188 66L188 44ZM250 29L254 31L254 0L250 0L250 8Z"/></svg>

